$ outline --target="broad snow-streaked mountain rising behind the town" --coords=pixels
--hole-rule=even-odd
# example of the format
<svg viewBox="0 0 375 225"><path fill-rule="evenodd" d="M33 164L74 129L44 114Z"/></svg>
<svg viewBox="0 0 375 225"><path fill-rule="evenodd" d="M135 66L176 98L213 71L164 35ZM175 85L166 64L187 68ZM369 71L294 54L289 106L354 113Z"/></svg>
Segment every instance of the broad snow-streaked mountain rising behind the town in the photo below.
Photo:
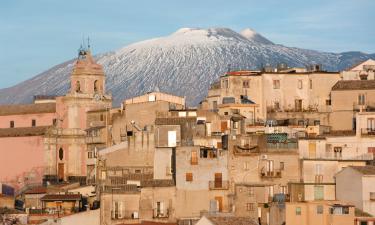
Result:
<svg viewBox="0 0 375 225"><path fill-rule="evenodd" d="M74 51L72 51L74 52ZM182 28L166 37L128 45L96 56L107 75L107 91L114 104L159 89L186 96L197 104L209 85L228 69L256 69L261 65L321 64L330 71L375 58L361 52L328 53L274 44L252 29L237 33L227 28ZM63 95L69 89L74 60L57 65L29 80L0 90L0 104L31 102L34 95Z"/></svg>

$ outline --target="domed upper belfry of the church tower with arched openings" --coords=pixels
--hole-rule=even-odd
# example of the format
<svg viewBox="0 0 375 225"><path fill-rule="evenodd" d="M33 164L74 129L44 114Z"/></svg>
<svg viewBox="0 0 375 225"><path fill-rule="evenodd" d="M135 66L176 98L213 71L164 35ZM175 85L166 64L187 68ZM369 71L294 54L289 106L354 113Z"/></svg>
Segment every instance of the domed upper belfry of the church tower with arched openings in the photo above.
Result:
<svg viewBox="0 0 375 225"><path fill-rule="evenodd" d="M95 95L105 94L105 75L101 65L91 55L90 44L78 50L78 59L71 74L70 93Z"/></svg>

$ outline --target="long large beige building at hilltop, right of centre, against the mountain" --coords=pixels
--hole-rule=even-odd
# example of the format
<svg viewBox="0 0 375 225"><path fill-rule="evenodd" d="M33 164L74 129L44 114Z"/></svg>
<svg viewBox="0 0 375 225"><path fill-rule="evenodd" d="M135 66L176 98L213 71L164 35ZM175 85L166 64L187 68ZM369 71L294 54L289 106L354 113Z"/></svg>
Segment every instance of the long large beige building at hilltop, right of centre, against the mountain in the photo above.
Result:
<svg viewBox="0 0 375 225"><path fill-rule="evenodd" d="M330 91L340 79L339 73L295 69L228 72L211 86L202 107L229 113L223 107L233 106L254 123L300 118L328 125Z"/></svg>

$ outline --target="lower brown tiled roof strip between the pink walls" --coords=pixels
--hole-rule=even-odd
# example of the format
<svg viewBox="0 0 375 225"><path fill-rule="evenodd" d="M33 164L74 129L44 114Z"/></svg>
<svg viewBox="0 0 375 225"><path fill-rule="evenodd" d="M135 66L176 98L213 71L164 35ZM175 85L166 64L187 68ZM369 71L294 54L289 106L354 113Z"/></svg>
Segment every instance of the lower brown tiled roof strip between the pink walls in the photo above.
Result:
<svg viewBox="0 0 375 225"><path fill-rule="evenodd" d="M0 128L0 137L24 137L44 135L50 126Z"/></svg>

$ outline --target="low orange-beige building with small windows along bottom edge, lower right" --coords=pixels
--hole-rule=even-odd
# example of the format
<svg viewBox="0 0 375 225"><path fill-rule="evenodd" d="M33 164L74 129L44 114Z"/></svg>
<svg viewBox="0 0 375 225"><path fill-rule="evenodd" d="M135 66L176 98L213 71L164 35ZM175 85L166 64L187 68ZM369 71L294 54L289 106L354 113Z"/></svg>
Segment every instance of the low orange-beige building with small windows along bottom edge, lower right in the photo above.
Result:
<svg viewBox="0 0 375 225"><path fill-rule="evenodd" d="M285 223L298 225L352 225L354 206L337 201L287 202Z"/></svg>

